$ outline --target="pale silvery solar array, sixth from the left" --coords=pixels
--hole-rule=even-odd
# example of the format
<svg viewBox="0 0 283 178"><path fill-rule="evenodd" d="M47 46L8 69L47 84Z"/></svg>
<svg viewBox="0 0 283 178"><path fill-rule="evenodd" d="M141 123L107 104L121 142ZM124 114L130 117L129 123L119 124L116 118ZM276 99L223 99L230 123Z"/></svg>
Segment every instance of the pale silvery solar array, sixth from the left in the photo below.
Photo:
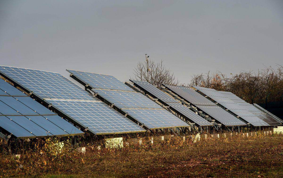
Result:
<svg viewBox="0 0 283 178"><path fill-rule="evenodd" d="M257 117L255 114L251 113L245 106L232 101L227 95L225 96L224 94L211 88L204 88L199 86L194 86L194 88L209 96L211 99L229 109L234 114L240 116L242 119L252 124L253 126L269 126L268 123Z"/></svg>

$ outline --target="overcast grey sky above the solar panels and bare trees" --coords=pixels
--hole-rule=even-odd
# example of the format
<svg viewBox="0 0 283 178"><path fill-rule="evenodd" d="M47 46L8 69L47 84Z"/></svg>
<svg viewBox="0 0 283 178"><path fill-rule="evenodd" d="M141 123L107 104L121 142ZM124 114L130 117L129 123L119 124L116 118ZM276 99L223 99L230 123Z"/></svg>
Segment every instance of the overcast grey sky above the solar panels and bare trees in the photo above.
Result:
<svg viewBox="0 0 283 178"><path fill-rule="evenodd" d="M3 1L0 64L114 75L164 60L182 83L283 64L283 1ZM70 77L68 77L70 78Z"/></svg>

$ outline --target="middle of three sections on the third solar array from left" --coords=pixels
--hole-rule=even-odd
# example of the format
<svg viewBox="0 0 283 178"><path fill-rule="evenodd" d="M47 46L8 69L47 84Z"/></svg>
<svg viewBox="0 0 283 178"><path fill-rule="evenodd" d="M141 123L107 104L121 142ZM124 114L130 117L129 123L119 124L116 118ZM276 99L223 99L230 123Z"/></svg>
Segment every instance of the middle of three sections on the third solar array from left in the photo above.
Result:
<svg viewBox="0 0 283 178"><path fill-rule="evenodd" d="M121 108L160 108L161 106L153 102L145 95L137 92L116 91L116 90L100 90L92 89L101 97L119 109Z"/></svg>

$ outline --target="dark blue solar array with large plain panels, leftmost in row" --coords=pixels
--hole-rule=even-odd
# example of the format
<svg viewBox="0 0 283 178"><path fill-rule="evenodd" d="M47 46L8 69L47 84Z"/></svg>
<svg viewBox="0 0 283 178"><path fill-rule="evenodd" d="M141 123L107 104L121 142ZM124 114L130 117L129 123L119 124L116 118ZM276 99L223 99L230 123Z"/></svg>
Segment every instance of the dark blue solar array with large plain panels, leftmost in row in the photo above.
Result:
<svg viewBox="0 0 283 178"><path fill-rule="evenodd" d="M84 134L3 79L0 79L0 127L18 139Z"/></svg>

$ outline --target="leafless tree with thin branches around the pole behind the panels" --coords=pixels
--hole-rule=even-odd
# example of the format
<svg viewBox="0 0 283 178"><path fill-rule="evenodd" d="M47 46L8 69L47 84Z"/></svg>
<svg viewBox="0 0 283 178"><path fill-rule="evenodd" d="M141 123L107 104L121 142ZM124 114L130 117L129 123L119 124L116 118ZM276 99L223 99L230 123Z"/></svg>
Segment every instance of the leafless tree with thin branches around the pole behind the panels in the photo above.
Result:
<svg viewBox="0 0 283 178"><path fill-rule="evenodd" d="M134 68L134 78L131 79L148 81L153 85L160 87L162 84L178 85L179 81L175 78L174 73L163 65L163 61L156 63L155 61L148 61L149 78L147 80L147 63L139 62Z"/></svg>

